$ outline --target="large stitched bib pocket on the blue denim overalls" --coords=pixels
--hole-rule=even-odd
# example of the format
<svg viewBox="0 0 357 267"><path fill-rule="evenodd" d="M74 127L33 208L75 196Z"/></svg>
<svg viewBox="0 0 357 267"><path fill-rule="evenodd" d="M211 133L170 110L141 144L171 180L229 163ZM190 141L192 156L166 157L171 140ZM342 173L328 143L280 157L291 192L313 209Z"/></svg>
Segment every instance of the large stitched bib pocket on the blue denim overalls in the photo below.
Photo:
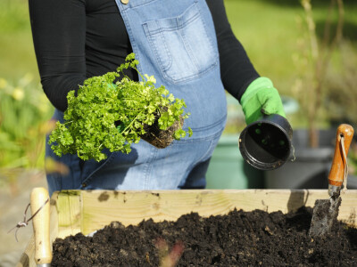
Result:
<svg viewBox="0 0 357 267"><path fill-rule="evenodd" d="M174 84L202 76L218 65L214 40L198 5L190 5L178 17L143 24L162 76ZM215 37L215 36L214 36Z"/></svg>

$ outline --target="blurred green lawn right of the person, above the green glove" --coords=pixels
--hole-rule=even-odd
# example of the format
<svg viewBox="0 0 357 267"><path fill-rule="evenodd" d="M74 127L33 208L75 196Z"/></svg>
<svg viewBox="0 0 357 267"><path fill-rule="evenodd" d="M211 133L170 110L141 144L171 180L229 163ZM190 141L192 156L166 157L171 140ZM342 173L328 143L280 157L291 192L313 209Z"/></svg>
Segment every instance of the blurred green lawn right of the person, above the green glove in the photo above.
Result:
<svg viewBox="0 0 357 267"><path fill-rule="evenodd" d="M316 6L314 4L316 3ZM297 20L303 19L303 8L295 0L225 0L233 32L245 46L255 68L270 77L280 93L291 95L295 80L293 56L302 32ZM328 1L312 1L317 32L322 36ZM357 2L345 3L345 36L357 41ZM336 16L334 17L336 21ZM356 49L357 52L357 49ZM335 55L338 64L338 55Z"/></svg>

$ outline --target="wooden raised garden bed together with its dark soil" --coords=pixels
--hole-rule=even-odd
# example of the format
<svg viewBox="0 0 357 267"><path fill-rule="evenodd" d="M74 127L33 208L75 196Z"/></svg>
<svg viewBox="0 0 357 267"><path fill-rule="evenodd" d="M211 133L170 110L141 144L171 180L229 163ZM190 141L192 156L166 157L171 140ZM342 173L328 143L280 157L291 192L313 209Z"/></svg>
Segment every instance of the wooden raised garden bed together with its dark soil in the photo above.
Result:
<svg viewBox="0 0 357 267"><path fill-rule="evenodd" d="M355 265L357 234L355 229L347 225L357 227L357 190L348 190L342 197L337 219L346 224L336 225L336 234L327 239L311 239L307 235L311 209L298 209L302 206L311 207L320 198L328 198L327 190L63 191L54 194L51 199L51 239L54 241L81 233L71 238L78 243L76 246L79 245L81 251L92 249L93 241L109 249L109 240L114 240L118 251L112 253L118 257L121 255L121 259L125 258L126 261L117 265L158 266L155 241L159 238L166 239L169 247L177 241L182 242L184 250L179 260L180 266L187 266L188 263L193 266L228 266L228 263L235 266L327 265L323 264L324 259L329 260L327 263L340 266ZM231 212L234 209L237 211ZM281 213L275 213L277 211ZM182 214L189 215L173 223ZM223 216L207 218L219 214ZM153 219L153 222L141 223L149 219ZM164 220L169 222L154 223ZM139 224L140 229L125 229L120 223L104 228L115 221L124 226ZM83 236L103 228L91 242ZM108 232L111 238L102 235ZM146 248L142 248L145 247L145 237L150 242ZM194 239L189 240L189 237ZM83 239L81 245L80 239ZM141 241L137 242L136 253L133 254L129 247L134 245L130 245L130 240L135 242L136 239ZM215 240L225 240L227 245L217 247ZM275 246L278 244L280 247ZM63 246L62 240L54 243L54 249L58 252L64 249ZM195 251L199 251L199 254L195 255ZM99 255L108 259L104 252ZM130 262L133 255L141 262ZM236 257L233 259L232 255ZM18 266L36 266L33 256L31 239ZM79 259L78 255L75 257ZM54 263L57 260L57 255L54 255ZM66 266L86 266L88 263L84 258L82 264ZM116 266L113 264L96 263L96 266Z"/></svg>

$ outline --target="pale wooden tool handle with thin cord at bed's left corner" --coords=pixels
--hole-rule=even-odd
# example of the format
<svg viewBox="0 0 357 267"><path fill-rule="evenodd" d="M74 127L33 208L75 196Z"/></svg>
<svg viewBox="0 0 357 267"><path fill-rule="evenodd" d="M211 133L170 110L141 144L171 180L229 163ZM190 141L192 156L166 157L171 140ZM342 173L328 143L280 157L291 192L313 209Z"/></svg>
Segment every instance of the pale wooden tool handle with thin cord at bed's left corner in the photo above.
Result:
<svg viewBox="0 0 357 267"><path fill-rule="evenodd" d="M47 199L48 192L45 188L39 187L32 190L30 195L31 213L32 215L37 213L32 218L35 236L35 262L37 264L52 262L52 249L50 243L50 202L47 201Z"/></svg>

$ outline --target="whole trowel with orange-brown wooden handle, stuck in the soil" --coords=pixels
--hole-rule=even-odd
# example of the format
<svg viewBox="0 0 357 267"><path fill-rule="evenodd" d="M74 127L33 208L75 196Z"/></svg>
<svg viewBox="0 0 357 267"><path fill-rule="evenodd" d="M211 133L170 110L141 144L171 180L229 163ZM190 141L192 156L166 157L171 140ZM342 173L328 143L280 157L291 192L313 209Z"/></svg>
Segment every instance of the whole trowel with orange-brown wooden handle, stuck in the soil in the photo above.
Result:
<svg viewBox="0 0 357 267"><path fill-rule="evenodd" d="M341 205L340 190L347 175L347 153L353 140L353 127L339 125L336 133L335 154L328 174L329 199L317 199L313 208L309 235L317 237L331 231Z"/></svg>

